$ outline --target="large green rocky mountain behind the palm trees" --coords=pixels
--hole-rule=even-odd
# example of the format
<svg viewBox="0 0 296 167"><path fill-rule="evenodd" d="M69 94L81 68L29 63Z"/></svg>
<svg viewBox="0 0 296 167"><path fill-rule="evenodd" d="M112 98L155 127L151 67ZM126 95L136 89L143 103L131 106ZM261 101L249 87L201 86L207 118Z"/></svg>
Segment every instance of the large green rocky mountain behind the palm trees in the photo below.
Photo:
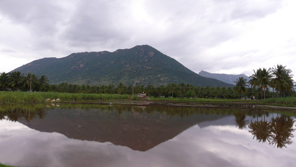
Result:
<svg viewBox="0 0 296 167"><path fill-rule="evenodd" d="M184 82L194 86L233 86L202 77L149 45L114 52L83 52L63 58L42 58L13 71L46 75L50 84L117 85L122 82L125 85L159 86Z"/></svg>

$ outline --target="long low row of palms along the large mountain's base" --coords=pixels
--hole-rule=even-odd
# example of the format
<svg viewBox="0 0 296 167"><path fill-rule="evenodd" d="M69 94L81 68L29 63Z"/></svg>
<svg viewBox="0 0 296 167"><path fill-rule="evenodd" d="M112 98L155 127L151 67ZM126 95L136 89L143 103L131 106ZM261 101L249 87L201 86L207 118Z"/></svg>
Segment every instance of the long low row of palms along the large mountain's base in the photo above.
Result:
<svg viewBox="0 0 296 167"><path fill-rule="evenodd" d="M251 97L254 96L253 88L246 88L247 91L244 93L244 96ZM239 94L235 92L235 90L231 87L200 87L193 86L191 84L175 84L169 83L166 86L161 85L155 87L153 85L124 85L123 83L119 83L117 86L115 85L76 85L76 84L68 84L61 83L59 85L50 85L47 91L52 92L61 92L61 93L107 93L107 94L137 94L137 93L147 93L151 96L156 97L175 97L175 98L239 98Z"/></svg>

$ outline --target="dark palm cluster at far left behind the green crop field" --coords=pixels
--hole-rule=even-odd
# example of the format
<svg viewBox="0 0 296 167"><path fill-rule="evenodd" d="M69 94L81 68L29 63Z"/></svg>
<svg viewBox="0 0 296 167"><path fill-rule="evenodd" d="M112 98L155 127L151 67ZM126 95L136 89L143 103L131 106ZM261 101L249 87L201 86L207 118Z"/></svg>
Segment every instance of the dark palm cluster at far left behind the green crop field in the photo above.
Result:
<svg viewBox="0 0 296 167"><path fill-rule="evenodd" d="M31 85L32 81L32 85ZM12 90L32 90L35 91L45 91L49 86L47 83L49 80L45 75L38 77L36 74L22 74L20 71L14 71L5 73L0 73L0 88L3 90L5 88L10 88Z"/></svg>

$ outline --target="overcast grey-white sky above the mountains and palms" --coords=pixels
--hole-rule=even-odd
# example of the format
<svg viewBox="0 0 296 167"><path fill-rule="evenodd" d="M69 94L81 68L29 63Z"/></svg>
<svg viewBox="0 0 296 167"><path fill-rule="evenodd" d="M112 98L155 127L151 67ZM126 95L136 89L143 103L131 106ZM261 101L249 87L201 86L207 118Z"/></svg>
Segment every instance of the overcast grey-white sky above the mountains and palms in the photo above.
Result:
<svg viewBox="0 0 296 167"><path fill-rule="evenodd" d="M0 1L0 71L148 44L198 73L283 64L296 75L295 0Z"/></svg>

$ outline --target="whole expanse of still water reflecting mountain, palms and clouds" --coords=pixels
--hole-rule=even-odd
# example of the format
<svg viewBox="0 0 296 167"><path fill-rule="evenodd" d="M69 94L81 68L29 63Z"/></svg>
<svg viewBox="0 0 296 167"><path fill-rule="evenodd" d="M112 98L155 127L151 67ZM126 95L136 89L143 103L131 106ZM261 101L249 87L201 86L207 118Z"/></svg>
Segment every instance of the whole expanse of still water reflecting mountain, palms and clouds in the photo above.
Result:
<svg viewBox="0 0 296 167"><path fill-rule="evenodd" d="M296 164L294 112L214 104L0 107L0 162L14 166Z"/></svg>

